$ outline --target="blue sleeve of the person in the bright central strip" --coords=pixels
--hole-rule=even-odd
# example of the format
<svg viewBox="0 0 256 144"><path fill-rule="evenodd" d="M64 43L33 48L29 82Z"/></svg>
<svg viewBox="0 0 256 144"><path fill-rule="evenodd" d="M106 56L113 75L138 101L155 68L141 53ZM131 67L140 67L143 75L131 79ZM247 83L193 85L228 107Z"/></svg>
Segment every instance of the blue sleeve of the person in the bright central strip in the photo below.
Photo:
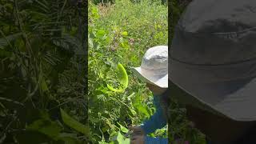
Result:
<svg viewBox="0 0 256 144"><path fill-rule="evenodd" d="M162 106L160 106L159 97L160 96L154 96L154 106L156 108L156 112L141 125L142 130L144 130L146 134L153 133L155 130L166 126L166 117L163 113Z"/></svg>

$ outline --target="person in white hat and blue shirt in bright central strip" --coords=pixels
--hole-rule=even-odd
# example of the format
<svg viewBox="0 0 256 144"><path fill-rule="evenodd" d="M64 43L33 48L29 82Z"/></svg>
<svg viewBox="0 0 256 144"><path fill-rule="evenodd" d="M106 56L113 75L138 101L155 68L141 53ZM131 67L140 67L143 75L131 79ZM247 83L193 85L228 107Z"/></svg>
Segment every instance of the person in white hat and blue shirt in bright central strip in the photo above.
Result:
<svg viewBox="0 0 256 144"><path fill-rule="evenodd" d="M146 134L166 126L166 116L159 102L161 95L168 88L168 46L154 46L146 51L140 67L132 68L134 74L142 81L154 95L155 113L141 126L130 126L133 131L131 144L167 144L167 138L150 138Z"/></svg>

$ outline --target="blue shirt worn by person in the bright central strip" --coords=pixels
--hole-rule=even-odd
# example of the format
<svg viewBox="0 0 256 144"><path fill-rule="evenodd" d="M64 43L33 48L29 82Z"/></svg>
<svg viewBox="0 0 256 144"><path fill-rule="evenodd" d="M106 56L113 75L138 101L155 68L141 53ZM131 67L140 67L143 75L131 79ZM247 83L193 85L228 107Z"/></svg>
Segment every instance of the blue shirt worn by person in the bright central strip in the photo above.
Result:
<svg viewBox="0 0 256 144"><path fill-rule="evenodd" d="M145 134L153 133L155 130L161 129L167 124L162 106L160 106L159 97L160 96L154 96L155 113L141 125ZM146 136L145 144L168 144L168 138L151 138Z"/></svg>

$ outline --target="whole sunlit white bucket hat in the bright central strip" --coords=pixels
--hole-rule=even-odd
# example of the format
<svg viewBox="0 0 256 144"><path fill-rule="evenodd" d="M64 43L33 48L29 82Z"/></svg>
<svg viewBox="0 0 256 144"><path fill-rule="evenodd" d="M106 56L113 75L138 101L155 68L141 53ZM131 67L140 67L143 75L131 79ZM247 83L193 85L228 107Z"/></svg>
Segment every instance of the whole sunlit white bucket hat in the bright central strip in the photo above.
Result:
<svg viewBox="0 0 256 144"><path fill-rule="evenodd" d="M144 82L168 88L168 46L154 46L146 50L141 66L131 70Z"/></svg>

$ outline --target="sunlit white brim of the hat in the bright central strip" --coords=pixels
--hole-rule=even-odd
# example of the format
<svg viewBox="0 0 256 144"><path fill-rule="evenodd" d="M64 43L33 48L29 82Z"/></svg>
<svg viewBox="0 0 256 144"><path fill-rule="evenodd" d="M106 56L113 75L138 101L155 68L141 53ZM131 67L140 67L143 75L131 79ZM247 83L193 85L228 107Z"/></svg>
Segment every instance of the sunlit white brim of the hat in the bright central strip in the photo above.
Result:
<svg viewBox="0 0 256 144"><path fill-rule="evenodd" d="M161 88L168 88L168 74L161 74L159 70L144 70L141 67L132 67L131 70L144 82Z"/></svg>

